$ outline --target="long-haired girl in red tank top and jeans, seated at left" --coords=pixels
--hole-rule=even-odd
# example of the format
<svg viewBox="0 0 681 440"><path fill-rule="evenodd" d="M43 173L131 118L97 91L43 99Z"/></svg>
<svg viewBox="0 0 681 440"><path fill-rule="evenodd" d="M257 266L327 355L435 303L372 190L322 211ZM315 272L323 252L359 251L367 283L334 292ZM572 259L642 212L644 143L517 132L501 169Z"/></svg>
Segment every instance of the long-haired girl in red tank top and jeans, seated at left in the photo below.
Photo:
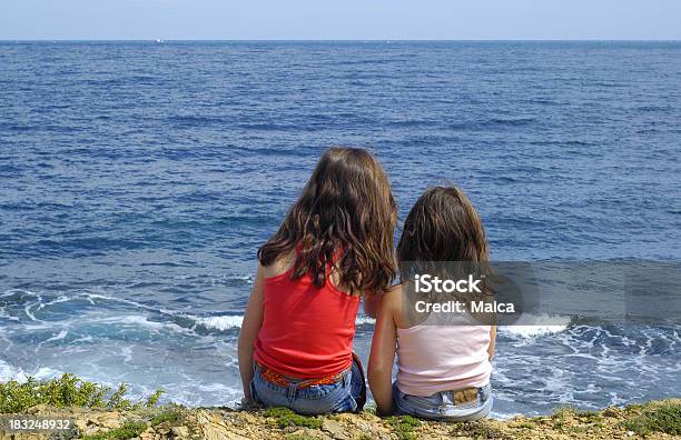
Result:
<svg viewBox="0 0 681 440"><path fill-rule="evenodd" d="M377 161L357 148L319 159L279 230L259 249L239 334L245 401L303 413L361 409L353 362L361 297L395 277L396 208Z"/></svg>

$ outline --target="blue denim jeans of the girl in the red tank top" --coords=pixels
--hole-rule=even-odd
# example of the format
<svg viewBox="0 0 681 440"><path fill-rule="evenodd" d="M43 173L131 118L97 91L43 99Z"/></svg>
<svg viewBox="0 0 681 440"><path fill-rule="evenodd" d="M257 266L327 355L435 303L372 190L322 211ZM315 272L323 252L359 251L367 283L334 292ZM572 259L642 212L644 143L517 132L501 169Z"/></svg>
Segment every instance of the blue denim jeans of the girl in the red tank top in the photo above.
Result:
<svg viewBox="0 0 681 440"><path fill-rule="evenodd" d="M366 392L362 367L357 362L348 368L343 378L333 384L319 384L298 389L295 383L282 387L263 378L255 366L250 381L253 399L264 407L286 407L300 414L361 411L357 402Z"/></svg>

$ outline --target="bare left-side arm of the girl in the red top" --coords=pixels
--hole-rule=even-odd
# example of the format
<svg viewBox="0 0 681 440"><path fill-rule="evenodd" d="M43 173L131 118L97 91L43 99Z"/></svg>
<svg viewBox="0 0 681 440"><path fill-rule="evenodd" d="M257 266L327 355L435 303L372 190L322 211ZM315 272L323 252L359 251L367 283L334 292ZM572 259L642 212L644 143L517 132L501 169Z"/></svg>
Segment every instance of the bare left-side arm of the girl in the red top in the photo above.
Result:
<svg viewBox="0 0 681 440"><path fill-rule="evenodd" d="M263 268L258 264L258 272L246 312L244 314L244 323L239 333L238 352L239 352L239 372L241 374L241 386L244 387L244 397L247 402L250 402L250 380L253 379L253 346L263 324Z"/></svg>

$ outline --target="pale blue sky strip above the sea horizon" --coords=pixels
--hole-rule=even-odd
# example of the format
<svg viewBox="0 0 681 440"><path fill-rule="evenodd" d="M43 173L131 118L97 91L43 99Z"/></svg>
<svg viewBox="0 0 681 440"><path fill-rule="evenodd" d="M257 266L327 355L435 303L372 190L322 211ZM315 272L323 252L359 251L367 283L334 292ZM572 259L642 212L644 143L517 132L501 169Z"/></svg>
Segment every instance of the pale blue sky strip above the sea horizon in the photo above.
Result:
<svg viewBox="0 0 681 440"><path fill-rule="evenodd" d="M0 39L681 39L681 0L0 0Z"/></svg>

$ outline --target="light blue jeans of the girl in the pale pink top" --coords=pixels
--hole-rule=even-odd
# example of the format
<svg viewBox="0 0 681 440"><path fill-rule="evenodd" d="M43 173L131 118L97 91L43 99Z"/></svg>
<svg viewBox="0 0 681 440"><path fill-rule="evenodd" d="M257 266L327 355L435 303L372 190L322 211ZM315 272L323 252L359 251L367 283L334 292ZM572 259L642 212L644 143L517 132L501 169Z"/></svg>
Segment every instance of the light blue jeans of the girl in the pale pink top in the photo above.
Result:
<svg viewBox="0 0 681 440"><path fill-rule="evenodd" d="M475 401L460 404L454 403L452 391L436 392L428 397L411 396L399 391L397 383L393 383L393 399L399 413L447 421L484 419L490 414L493 401L490 383L477 389Z"/></svg>

